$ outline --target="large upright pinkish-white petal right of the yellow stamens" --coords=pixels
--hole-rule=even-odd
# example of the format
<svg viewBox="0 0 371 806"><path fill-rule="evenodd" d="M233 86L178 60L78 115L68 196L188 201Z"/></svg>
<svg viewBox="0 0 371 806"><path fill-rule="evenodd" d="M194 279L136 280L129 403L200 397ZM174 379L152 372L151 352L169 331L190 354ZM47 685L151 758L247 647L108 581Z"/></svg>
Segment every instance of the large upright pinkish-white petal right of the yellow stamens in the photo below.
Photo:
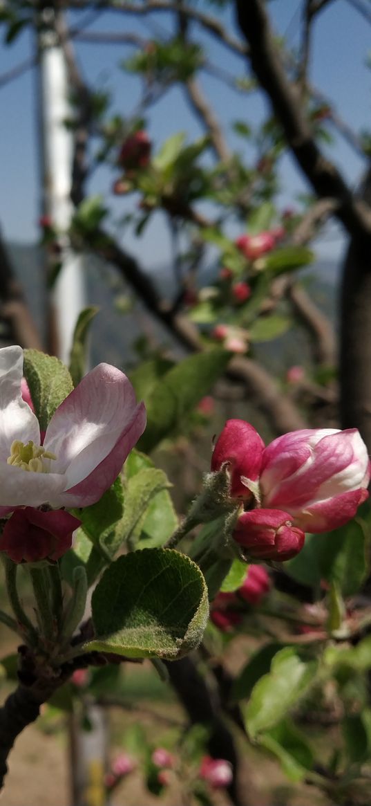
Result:
<svg viewBox="0 0 371 806"><path fill-rule="evenodd" d="M43 443L56 454L53 471L66 473L66 489L90 476L137 418L144 430L143 411L130 380L109 364L99 364L80 381L53 415ZM138 429L135 433L138 439Z"/></svg>

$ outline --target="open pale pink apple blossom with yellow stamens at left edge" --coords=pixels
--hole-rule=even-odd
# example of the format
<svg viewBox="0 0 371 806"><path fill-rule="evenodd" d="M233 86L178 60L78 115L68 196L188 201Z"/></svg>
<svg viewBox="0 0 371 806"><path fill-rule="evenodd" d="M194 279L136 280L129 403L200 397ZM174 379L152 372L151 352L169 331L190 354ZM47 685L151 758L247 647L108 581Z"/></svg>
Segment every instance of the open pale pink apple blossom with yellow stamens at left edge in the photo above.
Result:
<svg viewBox="0 0 371 806"><path fill-rule="evenodd" d="M43 445L21 395L23 351L0 350L0 517L20 506L89 506L117 478L146 426L123 372L99 364L53 414Z"/></svg>

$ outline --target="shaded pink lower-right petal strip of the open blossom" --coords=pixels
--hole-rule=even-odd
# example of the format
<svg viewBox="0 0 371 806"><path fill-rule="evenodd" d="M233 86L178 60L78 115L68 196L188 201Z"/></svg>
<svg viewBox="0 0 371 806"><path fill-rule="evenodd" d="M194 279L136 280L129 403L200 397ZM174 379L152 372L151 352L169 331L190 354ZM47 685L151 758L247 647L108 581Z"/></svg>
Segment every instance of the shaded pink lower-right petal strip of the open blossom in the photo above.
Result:
<svg viewBox="0 0 371 806"><path fill-rule="evenodd" d="M110 454L95 467L86 479L58 496L59 505L80 507L89 506L99 501L105 490L117 478L126 457L138 442L138 438L142 435L145 427L146 407L144 403L139 403L134 409L131 422L126 426L124 433L117 440Z"/></svg>

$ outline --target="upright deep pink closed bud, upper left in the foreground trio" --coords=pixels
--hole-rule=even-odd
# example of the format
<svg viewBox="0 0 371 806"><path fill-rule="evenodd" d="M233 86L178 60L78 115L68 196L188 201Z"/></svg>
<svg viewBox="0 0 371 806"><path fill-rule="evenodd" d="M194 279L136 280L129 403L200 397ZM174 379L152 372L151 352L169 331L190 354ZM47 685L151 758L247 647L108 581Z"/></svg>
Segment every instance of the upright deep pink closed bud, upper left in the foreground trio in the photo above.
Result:
<svg viewBox="0 0 371 806"><path fill-rule="evenodd" d="M249 499L249 481L257 482L262 464L264 442L254 426L245 420L227 420L212 453L212 471L228 463L230 495ZM241 480L241 476L245 481Z"/></svg>

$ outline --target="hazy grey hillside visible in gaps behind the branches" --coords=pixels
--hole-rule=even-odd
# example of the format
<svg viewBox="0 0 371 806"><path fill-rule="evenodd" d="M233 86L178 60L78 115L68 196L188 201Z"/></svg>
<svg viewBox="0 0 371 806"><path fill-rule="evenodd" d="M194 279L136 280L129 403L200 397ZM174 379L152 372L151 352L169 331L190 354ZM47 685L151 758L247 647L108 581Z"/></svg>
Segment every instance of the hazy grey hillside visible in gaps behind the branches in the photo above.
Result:
<svg viewBox="0 0 371 806"><path fill-rule="evenodd" d="M23 285L35 321L40 330L43 330L45 305L40 251L38 247L16 243L10 243L9 248L14 269ZM159 291L171 297L174 293L171 272L158 266L151 276ZM125 364L127 367L134 360L133 343L142 334L146 334L154 344L165 343L174 347L168 331L142 305L135 305L135 309L126 314L120 312L120 308L126 305L127 298L130 297L130 289L125 287L112 268L95 259L86 260L86 281L88 304L100 307L100 313L92 327L93 364L105 360L113 364ZM323 261L306 269L303 272L303 281L311 297L335 322L336 265L331 261ZM292 338L291 330L282 339L258 347L259 359L276 371L278 359L283 367L287 367L298 362L305 363L308 355L307 339L299 329L295 339Z"/></svg>

